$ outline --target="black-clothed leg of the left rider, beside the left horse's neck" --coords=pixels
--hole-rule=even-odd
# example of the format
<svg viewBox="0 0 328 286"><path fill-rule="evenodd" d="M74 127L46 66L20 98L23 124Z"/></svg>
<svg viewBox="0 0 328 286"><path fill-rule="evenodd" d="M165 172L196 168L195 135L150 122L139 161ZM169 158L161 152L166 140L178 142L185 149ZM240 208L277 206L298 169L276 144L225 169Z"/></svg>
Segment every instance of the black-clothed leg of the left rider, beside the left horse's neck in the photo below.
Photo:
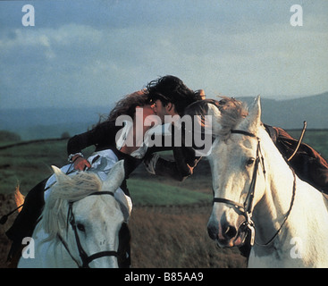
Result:
<svg viewBox="0 0 328 286"><path fill-rule="evenodd" d="M39 182L37 186L29 190L28 195L25 197L21 213L17 215L11 228L5 232L7 237L13 240L7 261L11 261L17 255L17 252L20 252L21 240L25 237L32 236L34 228L37 225L38 217L42 213L45 204L44 190L47 180Z"/></svg>

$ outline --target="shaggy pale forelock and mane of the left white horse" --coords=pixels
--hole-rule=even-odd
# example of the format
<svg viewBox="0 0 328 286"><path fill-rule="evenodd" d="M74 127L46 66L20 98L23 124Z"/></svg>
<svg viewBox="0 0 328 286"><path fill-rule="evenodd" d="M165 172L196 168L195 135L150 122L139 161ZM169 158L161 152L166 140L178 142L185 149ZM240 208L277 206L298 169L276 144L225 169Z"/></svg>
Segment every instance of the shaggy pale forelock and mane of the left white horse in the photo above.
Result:
<svg viewBox="0 0 328 286"><path fill-rule="evenodd" d="M100 191L102 181L95 173L78 172L63 181L57 181L52 188L39 224L48 234L46 240L53 240L66 230L68 204Z"/></svg>

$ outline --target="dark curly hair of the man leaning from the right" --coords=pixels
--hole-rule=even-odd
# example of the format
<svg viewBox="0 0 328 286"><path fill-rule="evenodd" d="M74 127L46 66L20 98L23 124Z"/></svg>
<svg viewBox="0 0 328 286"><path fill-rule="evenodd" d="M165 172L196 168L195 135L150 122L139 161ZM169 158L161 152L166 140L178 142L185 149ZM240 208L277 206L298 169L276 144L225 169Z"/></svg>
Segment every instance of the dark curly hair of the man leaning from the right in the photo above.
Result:
<svg viewBox="0 0 328 286"><path fill-rule="evenodd" d="M164 105L172 103L178 114L183 114L186 106L201 100L200 90L193 91L182 80L172 75L166 75L147 84L148 99L154 102L161 100Z"/></svg>

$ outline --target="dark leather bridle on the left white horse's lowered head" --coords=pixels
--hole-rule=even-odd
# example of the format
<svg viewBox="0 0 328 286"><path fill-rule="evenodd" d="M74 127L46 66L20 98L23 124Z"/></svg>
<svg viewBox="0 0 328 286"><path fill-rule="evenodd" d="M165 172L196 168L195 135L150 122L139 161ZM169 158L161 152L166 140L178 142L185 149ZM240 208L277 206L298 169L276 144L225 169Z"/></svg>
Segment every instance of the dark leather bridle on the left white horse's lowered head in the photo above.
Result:
<svg viewBox="0 0 328 286"><path fill-rule="evenodd" d="M87 197L89 196L100 196L100 195L110 195L114 197L114 192L112 191L97 191L97 192L93 192L91 194L89 194ZM100 251L97 252L93 255L88 256L88 254L84 251L84 249L82 248L82 245L80 244L80 237L79 237L79 233L78 233L78 226L77 223L75 222L75 217L72 211L72 206L73 206L73 202L69 202L69 207L68 207L68 214L67 214L67 227L68 227L68 223L71 224L71 228L74 232L74 236L75 236L75 242L76 245L78 247L79 250L79 255L80 255L80 259L82 261L82 265L80 265L80 262L71 255L71 251L68 248L67 242L65 242L65 240L63 240L62 236L60 236L59 234L57 235L58 239L63 243L63 247L67 250L68 254L70 255L71 259L79 266L79 268L88 268L89 263L97 258L101 258L101 257L118 257L118 252L115 250L111 250L111 251Z"/></svg>

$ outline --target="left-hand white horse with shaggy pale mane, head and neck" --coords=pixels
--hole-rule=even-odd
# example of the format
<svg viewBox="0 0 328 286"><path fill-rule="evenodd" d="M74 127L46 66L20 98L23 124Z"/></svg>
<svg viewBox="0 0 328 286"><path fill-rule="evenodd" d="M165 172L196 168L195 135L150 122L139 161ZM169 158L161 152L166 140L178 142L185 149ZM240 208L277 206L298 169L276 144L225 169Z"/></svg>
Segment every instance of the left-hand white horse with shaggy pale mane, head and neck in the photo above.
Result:
<svg viewBox="0 0 328 286"><path fill-rule="evenodd" d="M105 181L95 173L68 176L53 169L57 183L18 267L118 267L124 216L114 191L124 179L123 161Z"/></svg>

